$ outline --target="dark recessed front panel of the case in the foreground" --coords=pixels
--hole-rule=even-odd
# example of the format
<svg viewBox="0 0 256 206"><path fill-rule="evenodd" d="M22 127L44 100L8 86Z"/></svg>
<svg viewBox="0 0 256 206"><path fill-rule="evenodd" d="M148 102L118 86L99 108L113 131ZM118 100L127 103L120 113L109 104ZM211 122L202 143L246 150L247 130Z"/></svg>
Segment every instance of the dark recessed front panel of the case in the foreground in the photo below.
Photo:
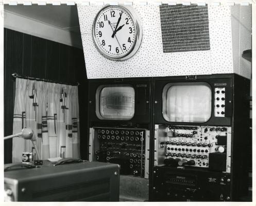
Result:
<svg viewBox="0 0 256 206"><path fill-rule="evenodd" d="M32 194L33 201L109 201L110 179L81 182L37 191Z"/></svg>

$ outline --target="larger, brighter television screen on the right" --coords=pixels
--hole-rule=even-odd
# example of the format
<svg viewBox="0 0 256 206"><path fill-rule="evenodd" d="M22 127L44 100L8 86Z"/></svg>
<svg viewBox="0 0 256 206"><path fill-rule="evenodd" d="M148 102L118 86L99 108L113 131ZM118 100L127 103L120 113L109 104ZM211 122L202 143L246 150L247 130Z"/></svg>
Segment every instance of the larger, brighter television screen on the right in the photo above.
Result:
<svg viewBox="0 0 256 206"><path fill-rule="evenodd" d="M168 122L207 122L212 92L207 83L167 84L163 92L163 117Z"/></svg>

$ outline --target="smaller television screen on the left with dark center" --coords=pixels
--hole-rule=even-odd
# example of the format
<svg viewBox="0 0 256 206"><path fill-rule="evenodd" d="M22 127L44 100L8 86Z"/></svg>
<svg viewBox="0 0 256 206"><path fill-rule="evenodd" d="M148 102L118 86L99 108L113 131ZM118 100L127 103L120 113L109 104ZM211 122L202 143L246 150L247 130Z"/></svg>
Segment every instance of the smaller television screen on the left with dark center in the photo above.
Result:
<svg viewBox="0 0 256 206"><path fill-rule="evenodd" d="M132 87L104 87L99 94L100 116L103 119L131 119L134 115L134 97Z"/></svg>

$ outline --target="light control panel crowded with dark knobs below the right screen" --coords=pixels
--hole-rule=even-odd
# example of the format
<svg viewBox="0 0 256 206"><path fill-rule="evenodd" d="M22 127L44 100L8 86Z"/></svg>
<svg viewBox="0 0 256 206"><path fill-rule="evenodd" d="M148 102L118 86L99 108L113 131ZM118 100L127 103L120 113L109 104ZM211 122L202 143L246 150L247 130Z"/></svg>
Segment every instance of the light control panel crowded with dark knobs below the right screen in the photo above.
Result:
<svg viewBox="0 0 256 206"><path fill-rule="evenodd" d="M230 172L231 128L155 125L155 166L210 167Z"/></svg>

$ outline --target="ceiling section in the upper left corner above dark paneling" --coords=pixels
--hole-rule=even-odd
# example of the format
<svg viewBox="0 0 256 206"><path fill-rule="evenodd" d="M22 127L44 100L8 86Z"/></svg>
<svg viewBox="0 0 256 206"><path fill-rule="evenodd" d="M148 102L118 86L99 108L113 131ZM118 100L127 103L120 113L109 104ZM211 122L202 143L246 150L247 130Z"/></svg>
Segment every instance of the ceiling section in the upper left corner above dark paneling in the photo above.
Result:
<svg viewBox="0 0 256 206"><path fill-rule="evenodd" d="M4 5L8 12L15 13L26 18L39 21L70 32L79 33L79 20L76 6L9 6Z"/></svg>

